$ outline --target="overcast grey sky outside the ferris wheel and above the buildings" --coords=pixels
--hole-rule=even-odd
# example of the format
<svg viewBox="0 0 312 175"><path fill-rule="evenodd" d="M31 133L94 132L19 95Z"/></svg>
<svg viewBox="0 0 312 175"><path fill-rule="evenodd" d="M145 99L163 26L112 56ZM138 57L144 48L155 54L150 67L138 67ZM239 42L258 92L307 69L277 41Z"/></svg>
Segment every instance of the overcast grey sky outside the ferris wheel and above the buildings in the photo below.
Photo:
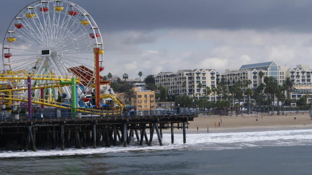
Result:
<svg viewBox="0 0 312 175"><path fill-rule="evenodd" d="M2 38L32 0L3 1ZM105 71L143 77L180 69L310 64L312 1L72 0L100 27Z"/></svg>

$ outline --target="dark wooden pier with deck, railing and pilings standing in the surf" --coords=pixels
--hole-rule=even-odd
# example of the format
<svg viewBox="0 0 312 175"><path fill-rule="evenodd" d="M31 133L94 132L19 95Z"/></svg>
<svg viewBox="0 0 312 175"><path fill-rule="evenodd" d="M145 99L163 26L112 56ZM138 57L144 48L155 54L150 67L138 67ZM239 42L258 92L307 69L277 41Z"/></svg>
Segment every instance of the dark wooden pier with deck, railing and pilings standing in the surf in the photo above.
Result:
<svg viewBox="0 0 312 175"><path fill-rule="evenodd" d="M139 114L139 115L138 115ZM174 143L174 128L183 130L183 143L186 143L188 121L197 114L192 112L163 113L145 111L116 114L92 113L50 113L29 116L14 115L0 117L0 147L6 149L33 150L61 148L110 147L127 144L136 137L137 145L152 146L154 133L159 145L163 145L163 130L171 130L171 143ZM149 129L149 135L146 130ZM17 146L10 147L16 144ZM19 146L18 146L19 145Z"/></svg>

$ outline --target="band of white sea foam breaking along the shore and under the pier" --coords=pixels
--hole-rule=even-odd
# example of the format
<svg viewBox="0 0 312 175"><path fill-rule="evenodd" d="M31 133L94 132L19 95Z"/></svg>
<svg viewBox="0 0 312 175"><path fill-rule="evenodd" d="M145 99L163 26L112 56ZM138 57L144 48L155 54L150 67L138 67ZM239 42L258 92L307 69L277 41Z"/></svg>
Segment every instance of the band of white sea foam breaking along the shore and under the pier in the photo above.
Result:
<svg viewBox="0 0 312 175"><path fill-rule="evenodd" d="M174 142L171 144L171 135L163 134L163 146L159 146L157 135L154 135L153 146L146 144L138 146L136 140L128 147L111 146L91 147L84 149L66 148L65 151L37 150L37 152L2 151L0 158L8 157L33 157L33 156L66 156L83 154L103 154L132 151L159 151L170 149L193 149L193 150L220 150L220 149L242 149L248 147L263 146L295 146L312 145L312 130L280 130L263 132L236 132L236 133L211 133L211 134L187 134L187 144L183 144L183 135L175 134ZM145 141L145 140L144 140Z"/></svg>

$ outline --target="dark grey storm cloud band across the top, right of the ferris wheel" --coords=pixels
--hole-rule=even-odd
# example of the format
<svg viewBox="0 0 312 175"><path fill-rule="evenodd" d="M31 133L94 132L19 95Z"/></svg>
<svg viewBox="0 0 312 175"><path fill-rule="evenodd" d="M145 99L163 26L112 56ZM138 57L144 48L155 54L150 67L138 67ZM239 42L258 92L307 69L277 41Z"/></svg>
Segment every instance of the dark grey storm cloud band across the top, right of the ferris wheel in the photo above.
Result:
<svg viewBox="0 0 312 175"><path fill-rule="evenodd" d="M102 30L277 29L310 31L312 1L114 0L77 1ZM99 22L100 21L100 22Z"/></svg>

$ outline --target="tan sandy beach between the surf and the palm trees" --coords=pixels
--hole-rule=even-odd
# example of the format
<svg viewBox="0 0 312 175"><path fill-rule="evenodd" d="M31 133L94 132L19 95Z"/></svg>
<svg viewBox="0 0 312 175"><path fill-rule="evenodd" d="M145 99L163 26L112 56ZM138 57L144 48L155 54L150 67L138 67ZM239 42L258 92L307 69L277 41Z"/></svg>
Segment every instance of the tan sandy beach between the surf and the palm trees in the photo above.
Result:
<svg viewBox="0 0 312 175"><path fill-rule="evenodd" d="M294 119L296 117L296 119ZM258 119L258 121L256 120ZM222 120L222 123L221 123ZM217 126L215 126L215 122ZM220 122L220 127L219 126ZM200 116L190 121L188 131L210 132L240 132L264 130L312 129L312 120L308 112L283 115L258 116Z"/></svg>

